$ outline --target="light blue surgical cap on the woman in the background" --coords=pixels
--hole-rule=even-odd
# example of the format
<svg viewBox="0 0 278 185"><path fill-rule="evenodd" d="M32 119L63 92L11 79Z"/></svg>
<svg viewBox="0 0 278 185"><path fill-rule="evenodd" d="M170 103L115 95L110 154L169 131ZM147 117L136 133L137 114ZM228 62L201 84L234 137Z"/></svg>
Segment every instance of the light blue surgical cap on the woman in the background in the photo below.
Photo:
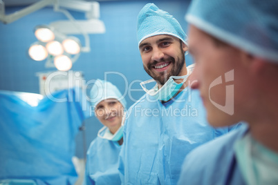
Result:
<svg viewBox="0 0 278 185"><path fill-rule="evenodd" d="M124 108L127 108L127 101L125 101L122 93L120 93L120 90L118 90L116 86L111 84L109 81L96 79L90 92L90 101L92 106L95 108L100 101L110 98L117 99Z"/></svg>

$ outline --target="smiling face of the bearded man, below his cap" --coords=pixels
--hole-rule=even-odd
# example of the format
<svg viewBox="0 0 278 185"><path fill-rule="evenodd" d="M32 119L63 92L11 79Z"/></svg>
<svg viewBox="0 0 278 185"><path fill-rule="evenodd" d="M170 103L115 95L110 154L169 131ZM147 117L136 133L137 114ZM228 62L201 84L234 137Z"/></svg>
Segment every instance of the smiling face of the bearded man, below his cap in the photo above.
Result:
<svg viewBox="0 0 278 185"><path fill-rule="evenodd" d="M156 35L143 40L139 46L146 72L161 85L170 76L186 75L187 46L171 35Z"/></svg>

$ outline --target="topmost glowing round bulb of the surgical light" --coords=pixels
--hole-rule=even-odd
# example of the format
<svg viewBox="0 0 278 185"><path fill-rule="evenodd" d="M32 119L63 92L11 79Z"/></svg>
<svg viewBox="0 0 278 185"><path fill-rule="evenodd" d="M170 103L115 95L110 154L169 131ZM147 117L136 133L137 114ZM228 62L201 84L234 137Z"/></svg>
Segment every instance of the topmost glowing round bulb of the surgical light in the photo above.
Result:
<svg viewBox="0 0 278 185"><path fill-rule="evenodd" d="M35 28L35 36L39 41L48 42L55 39L53 30L47 26L37 26Z"/></svg>

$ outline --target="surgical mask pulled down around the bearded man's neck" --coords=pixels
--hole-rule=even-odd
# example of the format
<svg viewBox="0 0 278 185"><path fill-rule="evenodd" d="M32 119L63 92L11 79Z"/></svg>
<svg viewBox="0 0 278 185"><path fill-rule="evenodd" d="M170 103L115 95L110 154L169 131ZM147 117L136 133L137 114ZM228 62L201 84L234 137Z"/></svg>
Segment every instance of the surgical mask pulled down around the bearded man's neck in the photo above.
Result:
<svg viewBox="0 0 278 185"><path fill-rule="evenodd" d="M156 86L154 86L154 88L152 88L151 90L147 90L147 88L144 87L145 84L154 82L155 81L154 79L142 81L140 85L142 86L143 90L145 90L145 92L151 95L152 97L155 97L160 101L168 101L169 99L174 97L176 93L178 93L178 90L180 90L181 86L183 86L183 83L185 83L188 77L189 74L184 76L171 76L166 81L166 83L159 89L158 89L158 84L156 84ZM176 83L174 79L183 79L183 81L180 83Z"/></svg>

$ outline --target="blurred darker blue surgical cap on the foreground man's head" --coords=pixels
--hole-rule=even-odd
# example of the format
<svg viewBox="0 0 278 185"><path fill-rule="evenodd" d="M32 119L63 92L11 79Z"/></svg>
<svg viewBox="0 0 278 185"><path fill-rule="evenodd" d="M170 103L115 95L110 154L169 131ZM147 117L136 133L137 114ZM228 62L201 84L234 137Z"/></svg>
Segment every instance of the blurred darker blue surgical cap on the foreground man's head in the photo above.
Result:
<svg viewBox="0 0 278 185"><path fill-rule="evenodd" d="M185 19L236 48L278 62L277 0L193 0Z"/></svg>

